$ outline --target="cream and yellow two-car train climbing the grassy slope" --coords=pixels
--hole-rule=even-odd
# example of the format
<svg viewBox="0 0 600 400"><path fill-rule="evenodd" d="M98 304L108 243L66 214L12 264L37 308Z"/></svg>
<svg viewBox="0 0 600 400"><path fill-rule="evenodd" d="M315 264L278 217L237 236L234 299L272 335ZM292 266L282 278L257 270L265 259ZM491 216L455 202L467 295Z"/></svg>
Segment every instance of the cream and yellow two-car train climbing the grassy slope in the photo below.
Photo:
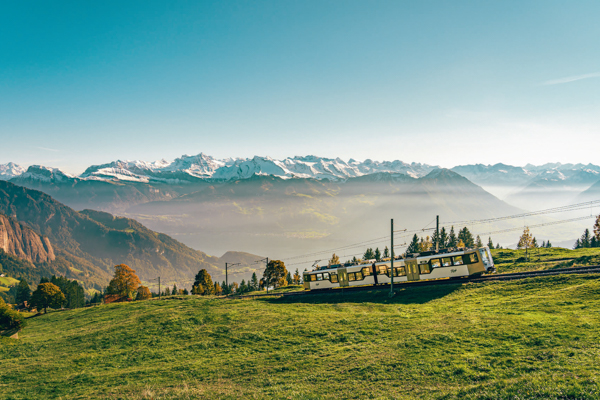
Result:
<svg viewBox="0 0 600 400"><path fill-rule="evenodd" d="M304 271L304 290L382 285L391 282L391 259L317 266ZM489 247L411 253L394 258L394 283L480 276L496 271Z"/></svg>

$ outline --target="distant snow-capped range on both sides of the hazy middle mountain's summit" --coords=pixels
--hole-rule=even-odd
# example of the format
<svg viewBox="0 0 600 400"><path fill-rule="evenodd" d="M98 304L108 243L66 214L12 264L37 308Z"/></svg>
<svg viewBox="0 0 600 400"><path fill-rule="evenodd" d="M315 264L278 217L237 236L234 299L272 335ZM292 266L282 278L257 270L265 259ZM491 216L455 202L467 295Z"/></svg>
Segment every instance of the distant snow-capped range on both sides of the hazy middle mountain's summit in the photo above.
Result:
<svg viewBox="0 0 600 400"><path fill-rule="evenodd" d="M24 168L9 162L0 165L0 180L51 193L59 200L63 195L67 200L82 194L81 199L93 199L88 203L73 204L76 208L89 206L123 211L131 204L168 200L197 191L203 184L249 179L256 175L345 181L377 173L421 178L437 168L399 160L344 161L316 156L283 160L259 156L216 159L200 153L183 155L173 161L113 161L90 166L78 176L57 168L39 165ZM459 165L451 170L509 204L527 210L564 205L600 181L600 166L593 164L549 163L523 167L475 164ZM66 189L67 186L71 188ZM86 195L87 192L93 194Z"/></svg>

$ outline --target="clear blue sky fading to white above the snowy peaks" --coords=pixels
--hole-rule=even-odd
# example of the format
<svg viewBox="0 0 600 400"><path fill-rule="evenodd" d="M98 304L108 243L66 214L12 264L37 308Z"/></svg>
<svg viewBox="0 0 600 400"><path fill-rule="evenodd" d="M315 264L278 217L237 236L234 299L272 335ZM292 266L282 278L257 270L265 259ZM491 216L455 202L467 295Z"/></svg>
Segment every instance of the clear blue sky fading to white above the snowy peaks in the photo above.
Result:
<svg viewBox="0 0 600 400"><path fill-rule="evenodd" d="M14 1L0 163L600 163L598 1Z"/></svg>

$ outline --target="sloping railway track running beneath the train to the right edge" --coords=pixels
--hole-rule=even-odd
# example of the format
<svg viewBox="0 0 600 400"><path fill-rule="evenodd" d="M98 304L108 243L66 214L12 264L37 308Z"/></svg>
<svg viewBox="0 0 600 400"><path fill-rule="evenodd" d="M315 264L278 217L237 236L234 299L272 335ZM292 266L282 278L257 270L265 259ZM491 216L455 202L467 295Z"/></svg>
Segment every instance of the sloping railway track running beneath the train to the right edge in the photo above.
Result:
<svg viewBox="0 0 600 400"><path fill-rule="evenodd" d="M399 288L412 288L420 286L434 286L434 285L456 285L461 283L473 282L487 282L487 281L511 281L517 279L535 278L539 276L552 276L552 275L563 275L563 274L591 274L600 273L600 265L592 265L586 267L574 267L574 268L557 268L547 269L542 271L528 271L528 272L515 272L510 274L497 274L497 275L485 275L473 278L455 278L455 279L439 279L432 281L414 281L414 282L402 282L397 283L395 286ZM329 294L329 293L348 293L348 292L365 292L373 290L389 290L389 284L371 285L371 286L353 286L345 288L333 288L333 289L320 289L320 290L307 290L297 292L284 292L284 293L261 293L254 295L242 295L232 296L235 299L254 298L254 297L265 297L265 296L311 296L318 294Z"/></svg>

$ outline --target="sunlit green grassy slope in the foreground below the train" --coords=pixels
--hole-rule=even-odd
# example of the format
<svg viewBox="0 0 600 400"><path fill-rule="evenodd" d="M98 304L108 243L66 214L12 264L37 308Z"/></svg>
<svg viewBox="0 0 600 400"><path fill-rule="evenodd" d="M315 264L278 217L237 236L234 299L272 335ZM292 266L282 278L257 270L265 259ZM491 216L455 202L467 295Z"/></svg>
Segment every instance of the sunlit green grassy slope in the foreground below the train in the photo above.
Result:
<svg viewBox="0 0 600 400"><path fill-rule="evenodd" d="M600 398L599 322L594 275L112 304L0 338L0 397Z"/></svg>

